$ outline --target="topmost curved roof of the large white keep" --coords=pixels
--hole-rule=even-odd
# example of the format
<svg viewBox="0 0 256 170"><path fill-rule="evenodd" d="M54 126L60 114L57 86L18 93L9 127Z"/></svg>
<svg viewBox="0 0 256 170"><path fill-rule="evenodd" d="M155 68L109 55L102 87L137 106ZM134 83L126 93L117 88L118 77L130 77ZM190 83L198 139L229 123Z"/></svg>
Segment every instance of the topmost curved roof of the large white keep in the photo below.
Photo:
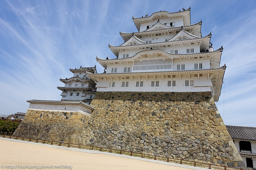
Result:
<svg viewBox="0 0 256 170"><path fill-rule="evenodd" d="M185 10L183 8L183 11L178 11L178 12L173 12L170 13L168 11L159 11L159 12L154 12L153 14L151 14L150 16L145 16L145 17L141 17L141 18L136 18L136 17L132 17L132 20L134 21L138 31L140 31L140 25L143 22L147 22L147 21L153 21L156 19L161 19L161 18L174 18L174 17L183 17L183 26L186 25L190 25L191 21L190 21L190 7Z"/></svg>

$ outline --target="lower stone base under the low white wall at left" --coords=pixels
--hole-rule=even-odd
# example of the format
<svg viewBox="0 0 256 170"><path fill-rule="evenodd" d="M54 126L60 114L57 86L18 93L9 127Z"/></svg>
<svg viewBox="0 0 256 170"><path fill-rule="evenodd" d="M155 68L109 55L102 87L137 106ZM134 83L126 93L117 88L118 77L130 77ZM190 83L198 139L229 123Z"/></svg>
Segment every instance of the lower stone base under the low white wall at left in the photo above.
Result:
<svg viewBox="0 0 256 170"><path fill-rule="evenodd" d="M88 117L79 112L28 109L13 136L79 144Z"/></svg>

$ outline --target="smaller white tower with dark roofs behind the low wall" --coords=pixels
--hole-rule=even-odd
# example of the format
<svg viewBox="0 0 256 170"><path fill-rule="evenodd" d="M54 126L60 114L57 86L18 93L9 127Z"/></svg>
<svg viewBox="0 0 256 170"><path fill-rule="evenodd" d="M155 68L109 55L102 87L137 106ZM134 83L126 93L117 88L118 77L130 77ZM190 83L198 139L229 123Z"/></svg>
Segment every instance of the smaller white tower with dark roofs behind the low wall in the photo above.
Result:
<svg viewBox="0 0 256 170"><path fill-rule="evenodd" d="M65 83L64 87L57 87L62 90L60 96L61 100L82 100L86 104L90 104L94 98L97 84L92 79L88 78L86 72L97 73L96 66L94 67L80 67L71 69L70 71L74 73L71 78L60 78L60 81Z"/></svg>

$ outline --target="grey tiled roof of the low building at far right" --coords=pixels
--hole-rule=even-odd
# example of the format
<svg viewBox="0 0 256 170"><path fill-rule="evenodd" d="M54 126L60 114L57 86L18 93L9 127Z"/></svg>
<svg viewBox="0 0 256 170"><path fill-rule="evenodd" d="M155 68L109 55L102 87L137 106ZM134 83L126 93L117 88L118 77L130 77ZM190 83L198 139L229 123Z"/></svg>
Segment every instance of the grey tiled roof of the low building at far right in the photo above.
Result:
<svg viewBox="0 0 256 170"><path fill-rule="evenodd" d="M256 141L256 127L226 125L232 139Z"/></svg>

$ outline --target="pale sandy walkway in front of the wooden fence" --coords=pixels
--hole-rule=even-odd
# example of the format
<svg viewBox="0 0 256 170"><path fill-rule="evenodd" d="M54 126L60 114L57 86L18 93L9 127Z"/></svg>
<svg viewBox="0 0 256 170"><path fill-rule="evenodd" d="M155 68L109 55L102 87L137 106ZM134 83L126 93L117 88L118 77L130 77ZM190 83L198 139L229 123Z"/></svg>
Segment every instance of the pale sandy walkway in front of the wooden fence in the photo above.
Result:
<svg viewBox="0 0 256 170"><path fill-rule="evenodd" d="M0 137L0 147L0 170L8 168L56 170L208 170L207 168L122 154L67 148L3 137Z"/></svg>

